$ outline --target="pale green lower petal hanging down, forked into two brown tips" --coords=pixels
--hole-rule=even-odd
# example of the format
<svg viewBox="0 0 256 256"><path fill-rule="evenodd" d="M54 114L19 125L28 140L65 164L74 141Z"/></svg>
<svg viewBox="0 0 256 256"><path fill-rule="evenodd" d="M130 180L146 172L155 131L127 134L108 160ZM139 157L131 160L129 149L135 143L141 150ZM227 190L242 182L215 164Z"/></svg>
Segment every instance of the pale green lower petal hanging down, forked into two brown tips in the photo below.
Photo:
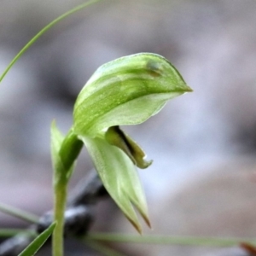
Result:
<svg viewBox="0 0 256 256"><path fill-rule="evenodd" d="M109 195L131 224L141 233L141 225L133 206L137 207L148 226L150 224L147 203L136 167L121 149L110 145L102 138L80 138L88 149L96 171Z"/></svg>

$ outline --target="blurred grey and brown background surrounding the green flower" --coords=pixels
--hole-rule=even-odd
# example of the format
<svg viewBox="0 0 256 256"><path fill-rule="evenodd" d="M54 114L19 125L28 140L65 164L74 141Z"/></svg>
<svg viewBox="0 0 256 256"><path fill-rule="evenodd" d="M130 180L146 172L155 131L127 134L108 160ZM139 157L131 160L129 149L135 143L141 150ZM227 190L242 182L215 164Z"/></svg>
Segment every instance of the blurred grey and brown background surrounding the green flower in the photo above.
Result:
<svg viewBox="0 0 256 256"><path fill-rule="evenodd" d="M41 28L79 3L2 1L0 73ZM67 132L76 96L97 67L154 52L169 59L194 92L143 125L125 127L154 160L139 171L154 227L145 231L255 236L255 23L253 0L105 0L61 21L0 84L0 202L38 215L50 209L51 121ZM71 187L91 168L84 150ZM96 230L134 233L119 211L108 219L111 201L103 204ZM26 223L0 213L0 226ZM122 249L129 255L247 255L238 248Z"/></svg>

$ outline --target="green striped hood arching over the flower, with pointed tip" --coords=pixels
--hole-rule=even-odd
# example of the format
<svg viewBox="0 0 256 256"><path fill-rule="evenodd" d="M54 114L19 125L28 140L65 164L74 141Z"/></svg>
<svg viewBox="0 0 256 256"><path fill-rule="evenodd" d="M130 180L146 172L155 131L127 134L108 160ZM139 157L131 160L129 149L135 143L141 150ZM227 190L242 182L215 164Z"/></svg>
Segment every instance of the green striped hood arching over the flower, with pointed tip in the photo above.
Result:
<svg viewBox="0 0 256 256"><path fill-rule="evenodd" d="M143 123L175 96L191 91L166 58L142 53L96 70L74 107L74 131L95 137L114 125Z"/></svg>

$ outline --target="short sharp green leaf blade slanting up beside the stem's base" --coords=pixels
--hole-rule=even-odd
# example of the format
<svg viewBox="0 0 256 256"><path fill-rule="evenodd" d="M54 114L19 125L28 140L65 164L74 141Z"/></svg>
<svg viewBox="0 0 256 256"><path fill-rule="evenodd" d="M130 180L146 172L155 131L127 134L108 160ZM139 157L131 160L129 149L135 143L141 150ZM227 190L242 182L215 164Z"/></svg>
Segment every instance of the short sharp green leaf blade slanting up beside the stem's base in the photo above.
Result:
<svg viewBox="0 0 256 256"><path fill-rule="evenodd" d="M52 234L55 229L55 223L51 224L47 230L44 230L38 237L35 238L32 243L26 247L18 256L32 256L38 252L40 247L44 245L44 242L47 241L49 236Z"/></svg>

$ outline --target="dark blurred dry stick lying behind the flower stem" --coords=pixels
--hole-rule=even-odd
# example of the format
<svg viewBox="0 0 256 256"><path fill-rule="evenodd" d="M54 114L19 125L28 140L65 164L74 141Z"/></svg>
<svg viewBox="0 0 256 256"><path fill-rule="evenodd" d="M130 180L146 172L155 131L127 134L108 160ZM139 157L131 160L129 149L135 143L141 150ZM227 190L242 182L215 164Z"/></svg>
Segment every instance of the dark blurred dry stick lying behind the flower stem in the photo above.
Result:
<svg viewBox="0 0 256 256"><path fill-rule="evenodd" d="M83 236L90 230L94 221L94 207L98 201L108 196L108 192L103 187L96 172L85 177L73 191L73 195L68 201L65 212L64 235ZM33 224L28 228L35 236L53 222L53 212L46 212L39 218L38 224ZM16 256L33 240L34 236L28 233L21 233L11 237L0 244L0 256Z"/></svg>

